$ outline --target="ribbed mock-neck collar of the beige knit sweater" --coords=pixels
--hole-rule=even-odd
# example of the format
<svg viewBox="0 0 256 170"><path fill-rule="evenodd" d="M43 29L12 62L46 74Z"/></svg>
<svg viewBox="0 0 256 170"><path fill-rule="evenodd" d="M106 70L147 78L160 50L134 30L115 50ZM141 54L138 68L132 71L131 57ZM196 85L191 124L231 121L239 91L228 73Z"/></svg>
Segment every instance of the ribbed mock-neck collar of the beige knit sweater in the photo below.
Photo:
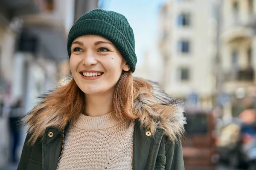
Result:
<svg viewBox="0 0 256 170"><path fill-rule="evenodd" d="M87 116L80 114L75 123L75 127L83 130L101 130L113 127L121 123L113 117L113 112L102 116Z"/></svg>

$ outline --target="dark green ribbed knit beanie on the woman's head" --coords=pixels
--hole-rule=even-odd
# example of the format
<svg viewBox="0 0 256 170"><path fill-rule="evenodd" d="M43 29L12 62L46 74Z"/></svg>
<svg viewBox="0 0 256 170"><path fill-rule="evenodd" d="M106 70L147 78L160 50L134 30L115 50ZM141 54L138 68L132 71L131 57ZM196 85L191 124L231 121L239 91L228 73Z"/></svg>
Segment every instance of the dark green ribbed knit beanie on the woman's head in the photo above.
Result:
<svg viewBox="0 0 256 170"><path fill-rule="evenodd" d="M111 41L122 57L128 62L131 71L135 71L137 57L133 30L122 14L93 9L83 14L70 29L67 38L67 52L70 57L72 42L82 35L99 35Z"/></svg>

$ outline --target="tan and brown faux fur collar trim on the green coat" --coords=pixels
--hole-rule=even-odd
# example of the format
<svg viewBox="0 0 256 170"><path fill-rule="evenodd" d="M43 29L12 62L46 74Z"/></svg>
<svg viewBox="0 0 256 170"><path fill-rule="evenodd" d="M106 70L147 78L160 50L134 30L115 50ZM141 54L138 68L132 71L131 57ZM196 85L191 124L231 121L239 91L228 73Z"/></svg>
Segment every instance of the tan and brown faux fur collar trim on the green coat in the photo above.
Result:
<svg viewBox="0 0 256 170"><path fill-rule="evenodd" d="M142 91L137 96L134 100L134 114L139 116L141 126L151 130L152 134L160 128L172 142L177 142L178 138L183 137L183 126L186 123L183 116L183 103L170 98L160 90L157 83L150 83L154 89L153 93L149 96ZM43 98L47 99L47 95ZM58 106L46 105L44 102L39 103L33 110L24 119L26 125L29 126L28 132L34 133L32 143L38 137L44 136L47 127L58 127L63 130L72 119L59 114Z"/></svg>

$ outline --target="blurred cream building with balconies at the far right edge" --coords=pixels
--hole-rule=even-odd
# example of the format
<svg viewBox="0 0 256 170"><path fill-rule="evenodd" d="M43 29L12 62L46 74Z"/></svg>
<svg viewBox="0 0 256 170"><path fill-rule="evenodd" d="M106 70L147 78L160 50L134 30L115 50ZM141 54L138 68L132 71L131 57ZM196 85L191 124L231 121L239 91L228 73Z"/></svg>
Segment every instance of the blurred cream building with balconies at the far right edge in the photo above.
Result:
<svg viewBox="0 0 256 170"><path fill-rule="evenodd" d="M221 9L221 90L230 96L226 115L237 116L256 96L256 1L224 0Z"/></svg>

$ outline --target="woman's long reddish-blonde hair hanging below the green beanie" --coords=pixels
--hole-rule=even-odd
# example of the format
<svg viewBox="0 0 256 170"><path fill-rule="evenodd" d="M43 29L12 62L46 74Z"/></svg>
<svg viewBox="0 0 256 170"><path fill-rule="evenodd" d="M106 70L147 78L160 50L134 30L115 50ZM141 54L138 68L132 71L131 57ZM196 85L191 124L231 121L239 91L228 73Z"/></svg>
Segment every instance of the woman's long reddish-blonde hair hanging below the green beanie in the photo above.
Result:
<svg viewBox="0 0 256 170"><path fill-rule="evenodd" d="M143 89L145 93L152 93L153 87L144 79L134 78L131 71L122 72L113 93L113 102L111 111L115 119L137 119L133 114L134 99ZM75 80L71 81L60 88L55 93L50 94L47 100L55 102L60 110L67 111L68 117L76 118L80 113L85 114L85 97L84 92L77 86Z"/></svg>

